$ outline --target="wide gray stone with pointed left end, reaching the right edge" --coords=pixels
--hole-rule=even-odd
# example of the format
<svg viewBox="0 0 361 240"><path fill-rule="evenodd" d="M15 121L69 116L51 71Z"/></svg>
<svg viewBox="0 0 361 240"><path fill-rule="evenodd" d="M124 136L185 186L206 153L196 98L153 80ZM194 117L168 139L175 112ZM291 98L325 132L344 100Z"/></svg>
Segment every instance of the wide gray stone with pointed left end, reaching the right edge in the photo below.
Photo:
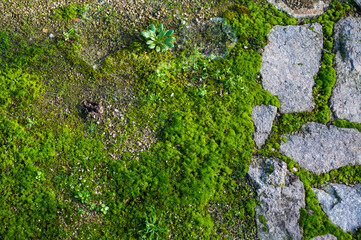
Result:
<svg viewBox="0 0 361 240"><path fill-rule="evenodd" d="M361 164L361 133L356 129L309 122L282 137L286 142L280 144L280 152L312 173Z"/></svg>

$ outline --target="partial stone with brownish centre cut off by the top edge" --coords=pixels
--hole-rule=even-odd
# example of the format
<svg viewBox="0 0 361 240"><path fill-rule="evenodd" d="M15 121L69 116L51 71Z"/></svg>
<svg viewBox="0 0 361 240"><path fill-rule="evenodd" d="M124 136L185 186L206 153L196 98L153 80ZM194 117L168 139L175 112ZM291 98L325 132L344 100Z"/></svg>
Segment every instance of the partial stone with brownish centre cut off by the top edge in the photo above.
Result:
<svg viewBox="0 0 361 240"><path fill-rule="evenodd" d="M310 18L322 15L324 9L330 5L329 0L267 0L281 11L285 11L294 18ZM357 0L356 0L357 1Z"/></svg>

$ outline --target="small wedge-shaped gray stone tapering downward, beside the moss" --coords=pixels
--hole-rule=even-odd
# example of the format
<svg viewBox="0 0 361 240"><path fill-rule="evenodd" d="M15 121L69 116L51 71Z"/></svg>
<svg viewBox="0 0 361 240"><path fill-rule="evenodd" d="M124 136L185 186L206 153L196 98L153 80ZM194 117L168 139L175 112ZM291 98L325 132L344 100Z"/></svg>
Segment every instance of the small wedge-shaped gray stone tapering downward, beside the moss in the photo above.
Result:
<svg viewBox="0 0 361 240"><path fill-rule="evenodd" d="M272 105L258 105L252 109L252 121L254 123L254 142L258 148L266 142L273 120L276 117L277 107Z"/></svg>

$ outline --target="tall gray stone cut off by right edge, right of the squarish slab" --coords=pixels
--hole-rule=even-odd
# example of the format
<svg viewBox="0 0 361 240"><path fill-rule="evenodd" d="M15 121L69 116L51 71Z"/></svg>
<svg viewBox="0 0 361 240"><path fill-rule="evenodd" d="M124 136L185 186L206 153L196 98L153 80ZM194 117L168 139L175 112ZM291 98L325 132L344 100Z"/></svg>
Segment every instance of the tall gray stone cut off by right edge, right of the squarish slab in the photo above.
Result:
<svg viewBox="0 0 361 240"><path fill-rule="evenodd" d="M336 84L330 99L334 117L361 123L361 18L344 18L334 27Z"/></svg>

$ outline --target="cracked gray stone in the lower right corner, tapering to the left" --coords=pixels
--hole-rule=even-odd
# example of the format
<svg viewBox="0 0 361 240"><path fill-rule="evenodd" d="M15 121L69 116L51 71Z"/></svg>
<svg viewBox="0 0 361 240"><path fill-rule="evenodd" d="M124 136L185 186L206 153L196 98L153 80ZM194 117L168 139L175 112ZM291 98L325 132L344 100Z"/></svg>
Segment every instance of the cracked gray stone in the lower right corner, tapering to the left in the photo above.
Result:
<svg viewBox="0 0 361 240"><path fill-rule="evenodd" d="M322 210L336 226L355 231L361 226L361 184L349 187L331 183L325 190L313 189Z"/></svg>

